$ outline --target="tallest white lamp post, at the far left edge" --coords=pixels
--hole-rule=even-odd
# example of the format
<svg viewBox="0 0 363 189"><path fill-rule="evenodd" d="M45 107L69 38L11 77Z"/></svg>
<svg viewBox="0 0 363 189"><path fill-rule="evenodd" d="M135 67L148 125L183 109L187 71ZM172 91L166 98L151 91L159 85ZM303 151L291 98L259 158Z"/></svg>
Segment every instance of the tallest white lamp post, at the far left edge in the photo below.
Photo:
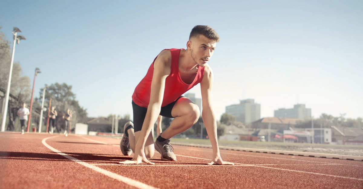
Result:
<svg viewBox="0 0 363 189"><path fill-rule="evenodd" d="M3 106L3 119L1 122L1 132L5 131L5 121L6 121L6 116L7 116L7 112L8 112L8 103L9 103L9 94L10 94L10 83L11 83L11 75L13 72L13 62L14 62L14 53L15 53L15 42L17 44L19 44L21 39L25 40L25 37L22 35L16 35L17 32L21 32L21 30L19 28L13 27L13 35L14 35L14 42L13 42L13 52L11 54L11 62L10 62L10 71L9 71L9 80L8 80L8 88L6 89L6 94L5 94L5 101L4 101L4 106Z"/></svg>

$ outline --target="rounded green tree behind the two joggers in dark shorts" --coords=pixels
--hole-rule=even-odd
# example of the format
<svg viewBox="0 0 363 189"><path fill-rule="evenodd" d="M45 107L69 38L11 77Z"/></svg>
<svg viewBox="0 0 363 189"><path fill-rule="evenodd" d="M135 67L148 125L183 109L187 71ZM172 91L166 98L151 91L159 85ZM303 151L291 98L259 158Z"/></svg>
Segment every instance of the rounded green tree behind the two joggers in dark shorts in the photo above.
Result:
<svg viewBox="0 0 363 189"><path fill-rule="evenodd" d="M41 88L39 91L39 96L41 98L37 99L38 102L41 103L43 96L43 89ZM79 102L76 100L76 94L72 92L72 86L67 85L66 83L53 83L50 84L46 88L45 93L45 102L44 106L49 108L49 100L52 98L52 106L56 106L56 110L58 116L56 117L56 127L58 130L64 128L64 119L67 109L72 112L72 120L71 120L71 128L74 128L76 123L83 123L87 117L87 110L79 105ZM37 107L38 111L40 111L40 106ZM45 114L45 115L44 115ZM44 123L46 124L48 111L45 112L44 115Z"/></svg>

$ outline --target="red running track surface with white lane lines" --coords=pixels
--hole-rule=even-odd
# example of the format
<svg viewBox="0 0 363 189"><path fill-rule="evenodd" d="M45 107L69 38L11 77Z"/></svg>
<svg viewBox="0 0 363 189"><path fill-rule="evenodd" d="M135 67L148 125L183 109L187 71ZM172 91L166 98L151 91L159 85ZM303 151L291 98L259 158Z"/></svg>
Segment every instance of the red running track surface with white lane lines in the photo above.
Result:
<svg viewBox="0 0 363 189"><path fill-rule="evenodd" d="M121 165L120 139L0 133L1 188L363 188L363 162L174 145L177 161Z"/></svg>

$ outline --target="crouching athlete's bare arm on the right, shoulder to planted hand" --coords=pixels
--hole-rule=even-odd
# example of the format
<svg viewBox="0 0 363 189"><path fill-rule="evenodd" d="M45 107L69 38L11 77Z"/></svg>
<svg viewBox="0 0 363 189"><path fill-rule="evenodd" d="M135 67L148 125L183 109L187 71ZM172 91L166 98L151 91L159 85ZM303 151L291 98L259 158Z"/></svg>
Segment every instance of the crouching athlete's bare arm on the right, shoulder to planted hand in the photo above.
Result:
<svg viewBox="0 0 363 189"><path fill-rule="evenodd" d="M213 149L212 161L208 164L234 165L233 163L230 163L228 161L223 161L219 152L219 146L217 141L217 121L212 109L212 85L213 72L212 69L208 65L206 65L204 68L203 79L200 82L200 89L203 104L202 118Z"/></svg>

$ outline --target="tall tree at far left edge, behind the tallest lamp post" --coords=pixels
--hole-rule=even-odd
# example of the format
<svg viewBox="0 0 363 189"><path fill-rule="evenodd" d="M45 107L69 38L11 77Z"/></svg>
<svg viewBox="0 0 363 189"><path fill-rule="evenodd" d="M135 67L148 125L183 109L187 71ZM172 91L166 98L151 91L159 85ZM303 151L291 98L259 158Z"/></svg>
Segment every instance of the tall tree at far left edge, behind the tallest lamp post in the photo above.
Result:
<svg viewBox="0 0 363 189"><path fill-rule="evenodd" d="M10 64L11 43L6 39L4 33L0 31L0 99L5 97L6 89L8 87ZM19 62L13 63L7 112L7 130L9 131L20 130L20 123L17 120L18 116L16 114L17 110L21 108L22 102L25 102L28 105L30 102L30 79L27 76L21 75L22 69Z"/></svg>

